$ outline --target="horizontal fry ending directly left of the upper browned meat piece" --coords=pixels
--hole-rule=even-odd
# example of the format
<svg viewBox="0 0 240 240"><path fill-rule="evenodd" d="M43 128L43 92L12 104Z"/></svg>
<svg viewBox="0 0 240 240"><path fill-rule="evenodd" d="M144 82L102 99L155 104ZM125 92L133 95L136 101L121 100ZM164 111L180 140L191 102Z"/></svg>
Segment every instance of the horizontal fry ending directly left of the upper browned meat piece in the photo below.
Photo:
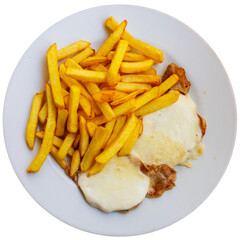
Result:
<svg viewBox="0 0 240 240"><path fill-rule="evenodd" d="M152 86L160 84L160 75L123 75L122 82L148 83Z"/></svg>

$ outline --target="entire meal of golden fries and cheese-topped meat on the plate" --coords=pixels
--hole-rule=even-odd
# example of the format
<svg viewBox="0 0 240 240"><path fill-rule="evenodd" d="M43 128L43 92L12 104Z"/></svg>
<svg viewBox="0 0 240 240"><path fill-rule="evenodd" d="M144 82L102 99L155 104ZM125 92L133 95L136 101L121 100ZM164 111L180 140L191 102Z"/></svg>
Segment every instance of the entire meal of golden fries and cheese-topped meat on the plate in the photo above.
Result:
<svg viewBox="0 0 240 240"><path fill-rule="evenodd" d="M203 154L207 124L182 67L165 70L163 52L130 35L126 20L105 25L112 34L97 51L83 40L48 49L51 86L46 100L35 95L26 130L31 150L35 136L42 143L27 172L50 153L91 206L127 212L174 188L174 167Z"/></svg>

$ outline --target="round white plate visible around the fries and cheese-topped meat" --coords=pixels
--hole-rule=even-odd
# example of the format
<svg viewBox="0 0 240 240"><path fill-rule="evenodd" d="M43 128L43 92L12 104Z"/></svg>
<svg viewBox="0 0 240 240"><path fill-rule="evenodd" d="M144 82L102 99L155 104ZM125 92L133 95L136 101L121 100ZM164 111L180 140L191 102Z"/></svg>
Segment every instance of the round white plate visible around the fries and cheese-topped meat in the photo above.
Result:
<svg viewBox="0 0 240 240"><path fill-rule="evenodd" d="M161 198L145 199L128 214L106 214L90 207L76 185L48 157L41 170L26 169L39 149L25 143L25 129L34 94L47 79L46 52L57 42L62 48L86 40L96 49L108 36L107 17L128 20L127 30L135 37L162 49L163 73L170 62L185 68L192 83L190 95L208 124L204 155L194 167L176 167L176 187ZM206 91L206 92L204 92ZM232 87L220 60L193 30L161 12L127 5L91 8L58 22L26 51L8 87L4 106L4 136L12 166L29 194L49 213L76 228L104 235L137 235L166 227L198 207L221 179L234 146L236 106Z"/></svg>

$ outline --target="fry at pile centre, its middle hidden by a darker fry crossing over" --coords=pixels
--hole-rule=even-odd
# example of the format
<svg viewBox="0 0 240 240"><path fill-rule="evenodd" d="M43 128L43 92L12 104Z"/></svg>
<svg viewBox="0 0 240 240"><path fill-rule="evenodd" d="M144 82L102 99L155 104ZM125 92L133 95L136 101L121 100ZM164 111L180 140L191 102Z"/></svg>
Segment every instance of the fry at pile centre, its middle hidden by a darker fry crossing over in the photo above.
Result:
<svg viewBox="0 0 240 240"><path fill-rule="evenodd" d="M98 92L100 92L99 87L95 84L95 83L87 83L86 84L86 88L88 89L88 91L92 94L92 96ZM97 103L98 107L100 108L100 110L102 111L104 117L110 121L115 117L115 114L111 108L111 106L107 103Z"/></svg>

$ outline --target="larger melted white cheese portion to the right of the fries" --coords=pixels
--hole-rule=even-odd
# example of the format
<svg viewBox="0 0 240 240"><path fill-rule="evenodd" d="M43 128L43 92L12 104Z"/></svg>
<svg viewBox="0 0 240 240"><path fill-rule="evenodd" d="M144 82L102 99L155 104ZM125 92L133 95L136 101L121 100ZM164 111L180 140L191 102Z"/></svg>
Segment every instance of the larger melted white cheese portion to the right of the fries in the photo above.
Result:
<svg viewBox="0 0 240 240"><path fill-rule="evenodd" d="M181 94L176 103L143 117L143 133L131 154L147 165L174 167L203 153L201 138L195 104L189 95Z"/></svg>

